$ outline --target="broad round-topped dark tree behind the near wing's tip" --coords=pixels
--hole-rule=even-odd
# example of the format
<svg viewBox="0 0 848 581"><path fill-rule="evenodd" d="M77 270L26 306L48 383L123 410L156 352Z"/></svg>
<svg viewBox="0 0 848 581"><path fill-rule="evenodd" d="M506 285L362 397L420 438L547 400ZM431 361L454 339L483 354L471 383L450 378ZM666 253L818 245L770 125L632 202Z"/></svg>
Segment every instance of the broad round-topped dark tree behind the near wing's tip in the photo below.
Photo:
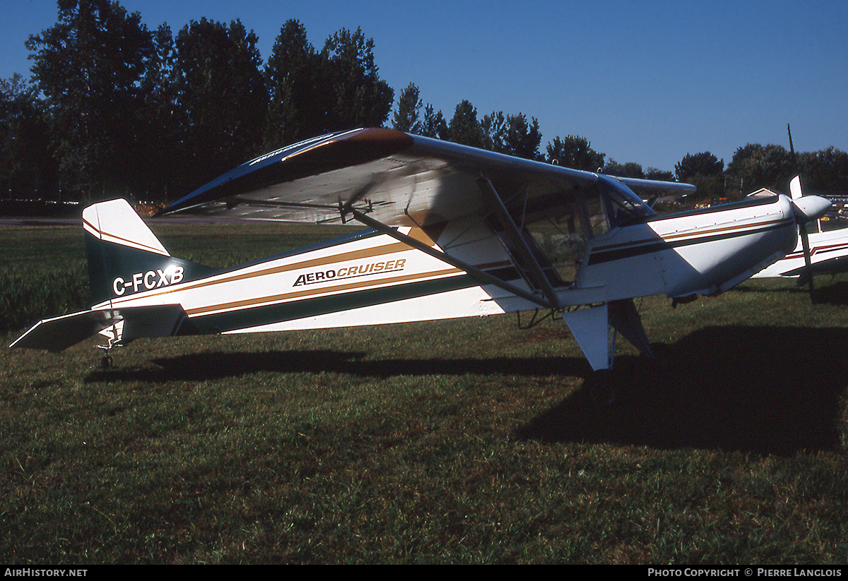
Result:
<svg viewBox="0 0 848 581"><path fill-rule="evenodd" d="M192 22L176 36L183 155L193 188L261 152L268 91L253 31Z"/></svg>

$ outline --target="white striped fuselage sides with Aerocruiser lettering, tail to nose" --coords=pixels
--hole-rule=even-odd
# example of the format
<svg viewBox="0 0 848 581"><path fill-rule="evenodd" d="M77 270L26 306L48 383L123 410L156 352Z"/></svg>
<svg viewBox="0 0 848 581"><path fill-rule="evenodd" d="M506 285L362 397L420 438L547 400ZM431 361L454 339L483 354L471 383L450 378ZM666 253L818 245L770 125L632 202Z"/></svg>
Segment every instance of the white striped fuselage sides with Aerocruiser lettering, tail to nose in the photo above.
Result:
<svg viewBox="0 0 848 581"><path fill-rule="evenodd" d="M92 309L179 305L186 318L177 333L204 334L401 323L539 307L439 259L444 246L451 257L541 299L517 257L483 222L448 224L436 241L422 230L399 230L437 254L366 231L197 279L182 280L183 268L163 258L168 263L163 268L113 273L112 296ZM590 239L576 279L556 286L555 296L561 307L575 307L637 296L716 294L777 260L775 249L791 249L795 238L785 197L656 217ZM125 337L131 335L126 329Z"/></svg>

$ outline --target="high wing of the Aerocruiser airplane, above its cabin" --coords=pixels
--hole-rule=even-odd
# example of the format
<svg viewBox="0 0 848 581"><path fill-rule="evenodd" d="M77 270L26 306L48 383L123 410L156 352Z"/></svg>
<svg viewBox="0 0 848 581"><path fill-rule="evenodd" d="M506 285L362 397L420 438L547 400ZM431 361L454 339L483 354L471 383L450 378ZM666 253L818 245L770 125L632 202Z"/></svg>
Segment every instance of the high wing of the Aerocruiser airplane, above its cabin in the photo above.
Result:
<svg viewBox="0 0 848 581"><path fill-rule="evenodd" d="M513 215L555 213L595 191L598 174L513 158L398 130L358 129L316 137L233 169L163 213L344 222L352 211L387 226L426 228L488 213L498 192ZM639 195L689 193L687 184L622 180Z"/></svg>

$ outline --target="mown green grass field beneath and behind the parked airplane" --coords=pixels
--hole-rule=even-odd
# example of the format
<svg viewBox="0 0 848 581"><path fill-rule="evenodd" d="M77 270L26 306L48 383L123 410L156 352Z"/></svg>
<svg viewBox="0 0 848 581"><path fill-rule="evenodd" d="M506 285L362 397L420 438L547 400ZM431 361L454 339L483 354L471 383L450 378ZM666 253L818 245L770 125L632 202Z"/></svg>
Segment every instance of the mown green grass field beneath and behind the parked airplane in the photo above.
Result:
<svg viewBox="0 0 848 581"><path fill-rule="evenodd" d="M155 230L217 266L316 235ZM81 230L0 234L7 345L87 307ZM667 364L622 346L603 409L515 317L3 349L0 562L845 565L846 280L638 302Z"/></svg>

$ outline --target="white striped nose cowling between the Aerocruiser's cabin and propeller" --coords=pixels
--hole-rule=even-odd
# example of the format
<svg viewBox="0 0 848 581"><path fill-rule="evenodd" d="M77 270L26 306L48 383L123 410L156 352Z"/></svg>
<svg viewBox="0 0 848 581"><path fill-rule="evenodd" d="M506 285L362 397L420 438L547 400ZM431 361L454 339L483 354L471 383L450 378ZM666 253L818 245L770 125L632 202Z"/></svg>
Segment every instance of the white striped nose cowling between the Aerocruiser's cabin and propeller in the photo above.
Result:
<svg viewBox="0 0 848 581"><path fill-rule="evenodd" d="M796 240L786 196L623 226L590 242L574 289L587 300L577 303L717 294L778 260Z"/></svg>

